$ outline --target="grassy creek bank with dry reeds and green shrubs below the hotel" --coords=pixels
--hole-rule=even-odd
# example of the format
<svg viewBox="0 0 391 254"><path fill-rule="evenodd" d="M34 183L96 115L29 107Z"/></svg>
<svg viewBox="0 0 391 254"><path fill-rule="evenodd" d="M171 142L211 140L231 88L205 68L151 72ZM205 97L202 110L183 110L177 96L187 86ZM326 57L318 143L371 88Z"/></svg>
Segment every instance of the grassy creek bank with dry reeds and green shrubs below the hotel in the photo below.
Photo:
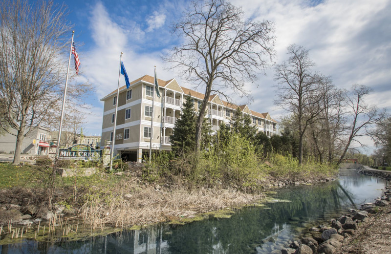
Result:
<svg viewBox="0 0 391 254"><path fill-rule="evenodd" d="M312 161L299 166L295 158L278 154L265 162L242 162L239 157L234 161L224 164L220 158L218 165L211 158L172 160L160 154L145 167L120 164L112 173L97 169L91 176L57 177L51 209L60 207L91 229L181 222L200 213L254 204L273 181L314 181L336 173ZM0 163L0 205L19 205L23 213L31 205L47 207L50 172L45 166ZM0 220L3 225L8 222Z"/></svg>

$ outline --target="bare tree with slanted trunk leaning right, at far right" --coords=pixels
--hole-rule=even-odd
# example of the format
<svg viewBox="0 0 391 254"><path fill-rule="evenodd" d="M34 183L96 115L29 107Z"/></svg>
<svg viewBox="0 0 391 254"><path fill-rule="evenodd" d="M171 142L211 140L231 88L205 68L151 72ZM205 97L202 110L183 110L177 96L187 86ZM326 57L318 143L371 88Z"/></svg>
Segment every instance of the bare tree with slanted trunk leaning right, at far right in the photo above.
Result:
<svg viewBox="0 0 391 254"><path fill-rule="evenodd" d="M370 128L373 124L378 124L384 118L386 110L380 110L376 106L369 106L365 104L364 98L371 92L371 89L365 85L353 85L350 91L345 91L346 96L346 112L347 112L347 127L345 128L346 140L345 147L342 150L341 156L337 162L340 164L345 154L350 147L352 141L359 144L361 142L357 139L362 136L372 136L374 129Z"/></svg>

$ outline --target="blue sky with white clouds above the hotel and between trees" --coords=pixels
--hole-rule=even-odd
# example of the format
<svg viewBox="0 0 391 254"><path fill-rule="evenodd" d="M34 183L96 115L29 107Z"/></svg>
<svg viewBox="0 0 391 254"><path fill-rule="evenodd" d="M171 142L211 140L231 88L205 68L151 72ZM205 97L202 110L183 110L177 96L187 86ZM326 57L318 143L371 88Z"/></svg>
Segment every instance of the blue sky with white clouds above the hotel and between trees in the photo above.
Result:
<svg viewBox="0 0 391 254"><path fill-rule="evenodd" d="M77 82L88 81L94 93L84 133L101 134L105 95L117 88L120 54L130 80L143 75L162 80L175 78L194 88L174 71L162 54L180 38L172 25L189 8L187 0L55 0L69 10L74 24L75 44L81 66ZM333 84L349 89L367 85L373 92L369 105L391 109L391 0L231 0L241 6L246 18L269 20L275 24L276 64L287 59L286 47L292 43L309 49L315 71L330 76ZM71 35L71 33L70 33ZM273 66L260 72L254 84L246 84L254 100L235 98L238 105L269 112L274 119L286 114L274 105L276 91ZM120 85L125 85L121 78ZM199 92L203 92L199 90ZM369 139L363 141L373 146Z"/></svg>

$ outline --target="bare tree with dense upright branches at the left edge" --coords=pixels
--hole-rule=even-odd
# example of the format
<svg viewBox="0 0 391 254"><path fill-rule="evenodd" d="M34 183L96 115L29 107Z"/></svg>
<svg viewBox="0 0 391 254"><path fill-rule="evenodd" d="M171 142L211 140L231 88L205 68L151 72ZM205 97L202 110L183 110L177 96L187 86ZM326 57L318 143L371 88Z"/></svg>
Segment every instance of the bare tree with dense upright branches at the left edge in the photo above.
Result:
<svg viewBox="0 0 391 254"><path fill-rule="evenodd" d="M17 137L19 164L23 138L60 114L71 25L65 6L52 1L3 0L0 10L0 126ZM68 87L70 97L82 97Z"/></svg>

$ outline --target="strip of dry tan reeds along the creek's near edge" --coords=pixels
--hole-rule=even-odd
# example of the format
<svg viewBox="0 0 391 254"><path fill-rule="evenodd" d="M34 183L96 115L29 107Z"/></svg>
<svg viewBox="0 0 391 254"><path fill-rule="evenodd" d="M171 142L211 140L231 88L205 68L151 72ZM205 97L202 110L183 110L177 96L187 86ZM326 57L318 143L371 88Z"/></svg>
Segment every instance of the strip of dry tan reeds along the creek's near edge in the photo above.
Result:
<svg viewBox="0 0 391 254"><path fill-rule="evenodd" d="M134 188L134 186L133 186ZM124 195L133 190L132 196ZM105 195L91 195L80 209L80 216L92 229L110 225L126 228L160 221L191 218L195 214L227 207L251 204L261 194L246 194L233 190L213 189L188 191L183 188L157 191L153 187L134 189L121 186L119 193L107 199Z"/></svg>

